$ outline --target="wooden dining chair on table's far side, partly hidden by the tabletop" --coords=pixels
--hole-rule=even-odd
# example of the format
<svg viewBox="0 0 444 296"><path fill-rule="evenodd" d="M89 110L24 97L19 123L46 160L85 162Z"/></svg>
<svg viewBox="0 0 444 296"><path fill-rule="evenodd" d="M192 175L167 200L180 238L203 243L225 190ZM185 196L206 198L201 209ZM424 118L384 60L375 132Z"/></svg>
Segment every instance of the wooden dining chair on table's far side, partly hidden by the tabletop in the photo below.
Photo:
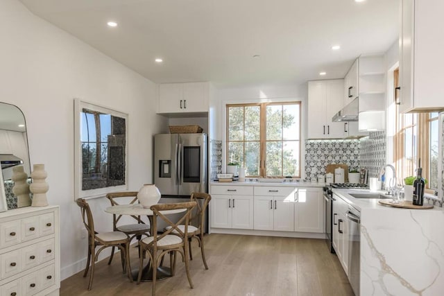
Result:
<svg viewBox="0 0 444 296"><path fill-rule="evenodd" d="M108 193L106 198L110 200L112 206L119 204L137 204L139 200L137 199L137 191L123 191ZM112 229L114 232L123 232L130 236L130 241L133 238L137 238L137 241L142 239L142 236L150 236L150 226L147 225L140 216L131 216L137 223L133 224L119 224L120 219L123 215L113 214L112 215ZM126 215L128 216L128 215ZM140 250L139 250L140 251ZM112 257L114 256L114 247L112 247L110 260L108 260L108 265L111 264Z"/></svg>

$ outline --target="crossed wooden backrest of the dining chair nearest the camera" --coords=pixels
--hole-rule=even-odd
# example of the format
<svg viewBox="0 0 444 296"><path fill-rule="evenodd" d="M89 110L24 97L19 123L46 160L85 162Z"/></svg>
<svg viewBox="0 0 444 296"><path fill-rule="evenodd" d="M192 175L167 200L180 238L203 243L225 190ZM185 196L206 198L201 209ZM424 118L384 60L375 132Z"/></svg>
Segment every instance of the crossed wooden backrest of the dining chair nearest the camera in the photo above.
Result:
<svg viewBox="0 0 444 296"><path fill-rule="evenodd" d="M169 226L162 234L157 234L157 232L153 232L153 241L151 244L157 243L160 239L168 234L171 234L173 230L176 230L177 233L182 236L182 238L188 237L188 225L189 218L191 217L191 211L196 207L196 202L177 202L172 204L154 204L150 207L153 211L153 227L152 229L157 229L157 219L163 220ZM177 221L173 222L168 218L167 214L162 214L162 211L169 211L173 209L185 209L185 211L180 212L182 217ZM185 225L183 230L180 229L179 225Z"/></svg>

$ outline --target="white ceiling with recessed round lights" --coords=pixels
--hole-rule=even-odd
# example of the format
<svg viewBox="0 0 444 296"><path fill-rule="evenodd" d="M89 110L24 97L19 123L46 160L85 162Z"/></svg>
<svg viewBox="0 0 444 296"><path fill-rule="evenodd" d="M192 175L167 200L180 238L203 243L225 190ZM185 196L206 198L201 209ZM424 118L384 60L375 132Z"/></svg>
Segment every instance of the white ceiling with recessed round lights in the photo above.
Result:
<svg viewBox="0 0 444 296"><path fill-rule="evenodd" d="M397 40L400 15L399 0L21 1L153 82L219 88L343 78L359 55Z"/></svg>

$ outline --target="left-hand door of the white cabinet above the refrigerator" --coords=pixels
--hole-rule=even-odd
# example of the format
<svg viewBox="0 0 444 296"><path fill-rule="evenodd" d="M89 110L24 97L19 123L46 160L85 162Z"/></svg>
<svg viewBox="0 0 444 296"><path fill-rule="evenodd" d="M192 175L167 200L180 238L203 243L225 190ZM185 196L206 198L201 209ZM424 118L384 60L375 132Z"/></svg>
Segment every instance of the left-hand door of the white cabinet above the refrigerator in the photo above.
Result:
<svg viewBox="0 0 444 296"><path fill-rule="evenodd" d="M182 83L160 84L157 94L157 113L182 112L182 96ZM182 103L182 108L180 106L180 103Z"/></svg>

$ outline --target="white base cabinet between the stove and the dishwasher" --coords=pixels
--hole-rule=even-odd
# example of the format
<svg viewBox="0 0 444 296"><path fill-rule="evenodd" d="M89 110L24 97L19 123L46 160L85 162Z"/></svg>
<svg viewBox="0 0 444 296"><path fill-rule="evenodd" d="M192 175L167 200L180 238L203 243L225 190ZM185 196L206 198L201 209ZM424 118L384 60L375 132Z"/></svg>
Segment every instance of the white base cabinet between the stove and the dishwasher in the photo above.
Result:
<svg viewBox="0 0 444 296"><path fill-rule="evenodd" d="M341 262L345 274L348 275L348 204L338 195L334 195L333 201L333 247Z"/></svg>

